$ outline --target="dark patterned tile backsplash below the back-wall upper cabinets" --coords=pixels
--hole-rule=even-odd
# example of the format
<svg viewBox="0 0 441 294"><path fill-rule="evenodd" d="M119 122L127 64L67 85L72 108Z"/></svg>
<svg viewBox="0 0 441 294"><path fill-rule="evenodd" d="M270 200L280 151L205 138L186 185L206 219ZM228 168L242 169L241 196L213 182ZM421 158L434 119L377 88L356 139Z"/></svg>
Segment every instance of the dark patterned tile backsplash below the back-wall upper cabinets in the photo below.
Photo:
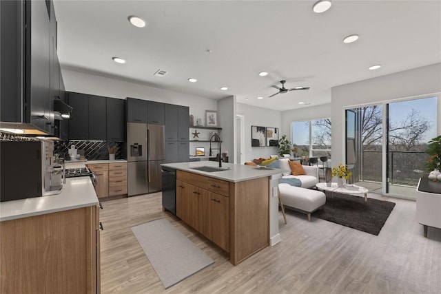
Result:
<svg viewBox="0 0 441 294"><path fill-rule="evenodd" d="M79 150L84 150L84 156L87 160L109 159L108 147L116 147L115 159L123 158L123 143L110 141L55 141L54 154L68 159L68 149L71 145L75 145Z"/></svg>

